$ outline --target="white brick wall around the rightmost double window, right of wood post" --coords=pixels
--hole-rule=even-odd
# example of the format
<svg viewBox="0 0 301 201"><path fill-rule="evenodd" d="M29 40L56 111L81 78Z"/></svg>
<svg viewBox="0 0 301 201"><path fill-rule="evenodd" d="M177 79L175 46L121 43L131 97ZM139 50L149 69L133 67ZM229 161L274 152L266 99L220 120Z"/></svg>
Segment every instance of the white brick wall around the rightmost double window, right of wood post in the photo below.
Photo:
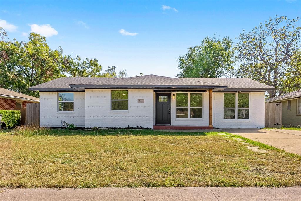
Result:
<svg viewBox="0 0 301 201"><path fill-rule="evenodd" d="M250 120L224 119L224 94L213 93L213 127L217 128L257 128L264 127L264 92L250 93Z"/></svg>

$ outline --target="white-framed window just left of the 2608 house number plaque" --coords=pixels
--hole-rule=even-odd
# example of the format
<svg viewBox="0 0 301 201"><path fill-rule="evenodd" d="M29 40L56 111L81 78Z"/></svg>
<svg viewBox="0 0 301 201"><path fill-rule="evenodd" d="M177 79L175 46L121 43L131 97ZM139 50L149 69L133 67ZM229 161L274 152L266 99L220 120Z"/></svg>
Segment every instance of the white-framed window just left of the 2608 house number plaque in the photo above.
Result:
<svg viewBox="0 0 301 201"><path fill-rule="evenodd" d="M111 91L111 110L128 110L128 90Z"/></svg>

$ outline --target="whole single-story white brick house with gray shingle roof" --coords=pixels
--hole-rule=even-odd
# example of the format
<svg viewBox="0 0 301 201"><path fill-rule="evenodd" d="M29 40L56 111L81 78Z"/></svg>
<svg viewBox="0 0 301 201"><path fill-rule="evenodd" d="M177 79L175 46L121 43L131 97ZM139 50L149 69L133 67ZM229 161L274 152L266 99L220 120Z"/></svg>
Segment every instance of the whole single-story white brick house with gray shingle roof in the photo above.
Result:
<svg viewBox="0 0 301 201"><path fill-rule="evenodd" d="M59 78L36 85L40 126L210 129L264 127L265 91L247 78Z"/></svg>

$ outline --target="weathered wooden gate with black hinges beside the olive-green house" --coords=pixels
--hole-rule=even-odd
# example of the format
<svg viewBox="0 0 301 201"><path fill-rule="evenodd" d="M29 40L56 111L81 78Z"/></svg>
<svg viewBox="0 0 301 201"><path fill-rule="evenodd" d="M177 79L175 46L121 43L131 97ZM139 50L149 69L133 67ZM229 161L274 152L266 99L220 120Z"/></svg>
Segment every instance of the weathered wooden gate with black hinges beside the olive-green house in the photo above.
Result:
<svg viewBox="0 0 301 201"><path fill-rule="evenodd" d="M265 103L265 127L282 127L282 103Z"/></svg>

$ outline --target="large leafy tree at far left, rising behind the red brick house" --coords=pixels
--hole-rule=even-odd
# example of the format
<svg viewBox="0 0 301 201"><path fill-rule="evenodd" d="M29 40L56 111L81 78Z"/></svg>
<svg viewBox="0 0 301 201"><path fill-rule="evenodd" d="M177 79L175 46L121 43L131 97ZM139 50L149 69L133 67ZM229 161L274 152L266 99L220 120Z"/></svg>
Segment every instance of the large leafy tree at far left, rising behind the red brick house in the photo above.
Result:
<svg viewBox="0 0 301 201"><path fill-rule="evenodd" d="M51 50L39 34L30 33L28 42L2 40L0 52L1 87L38 96L28 87L64 76L61 48Z"/></svg>

